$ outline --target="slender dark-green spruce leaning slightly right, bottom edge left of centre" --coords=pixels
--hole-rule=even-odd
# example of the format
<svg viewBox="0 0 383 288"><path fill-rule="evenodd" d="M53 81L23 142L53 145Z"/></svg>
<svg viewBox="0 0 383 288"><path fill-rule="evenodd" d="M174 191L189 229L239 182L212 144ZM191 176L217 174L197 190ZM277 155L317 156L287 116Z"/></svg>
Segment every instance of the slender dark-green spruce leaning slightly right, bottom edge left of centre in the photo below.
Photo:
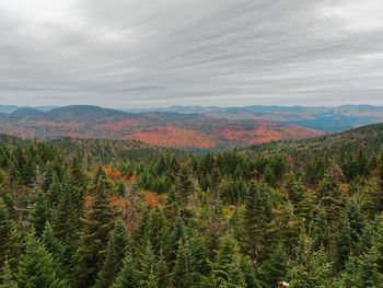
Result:
<svg viewBox="0 0 383 288"><path fill-rule="evenodd" d="M128 237L126 234L126 227L121 219L118 219L112 231L107 251L105 256L105 262L103 268L98 273L97 281L94 287L109 287L119 270L123 267L123 261L128 245Z"/></svg>

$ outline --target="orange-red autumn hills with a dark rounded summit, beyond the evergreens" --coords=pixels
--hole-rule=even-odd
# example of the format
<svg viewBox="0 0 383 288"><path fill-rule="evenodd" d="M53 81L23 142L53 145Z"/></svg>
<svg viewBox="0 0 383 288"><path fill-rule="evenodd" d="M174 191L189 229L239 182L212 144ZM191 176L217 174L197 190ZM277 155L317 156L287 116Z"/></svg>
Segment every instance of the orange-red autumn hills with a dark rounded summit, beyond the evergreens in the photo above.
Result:
<svg viewBox="0 0 383 288"><path fill-rule="evenodd" d="M48 111L22 107L11 113L0 113L0 133L38 139L132 139L192 151L222 150L323 134L298 125L255 118L228 119L201 113L127 113L89 105L55 107Z"/></svg>

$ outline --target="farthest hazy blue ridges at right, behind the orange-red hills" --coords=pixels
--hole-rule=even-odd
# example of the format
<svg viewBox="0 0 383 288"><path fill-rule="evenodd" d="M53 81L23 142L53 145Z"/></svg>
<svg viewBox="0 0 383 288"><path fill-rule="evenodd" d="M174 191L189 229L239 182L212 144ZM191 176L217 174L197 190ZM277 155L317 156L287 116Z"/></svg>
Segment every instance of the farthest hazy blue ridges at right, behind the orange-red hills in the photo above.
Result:
<svg viewBox="0 0 383 288"><path fill-rule="evenodd" d="M244 107L171 106L167 108L127 111L134 113L150 111L175 112L179 114L198 113L212 118L231 120L267 120L303 126L326 134L383 122L383 106L372 105L344 105L339 107L260 105Z"/></svg>

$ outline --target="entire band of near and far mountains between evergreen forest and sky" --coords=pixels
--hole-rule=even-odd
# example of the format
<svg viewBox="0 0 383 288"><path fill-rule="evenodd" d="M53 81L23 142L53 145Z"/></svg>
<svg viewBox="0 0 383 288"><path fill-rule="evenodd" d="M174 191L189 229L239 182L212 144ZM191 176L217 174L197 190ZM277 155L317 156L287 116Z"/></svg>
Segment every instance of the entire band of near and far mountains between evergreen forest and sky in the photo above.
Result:
<svg viewBox="0 0 383 288"><path fill-rule="evenodd" d="M192 151L310 138L383 122L383 107L369 105L172 106L130 113L89 105L1 108L11 113L0 114L0 131L23 138L134 139Z"/></svg>

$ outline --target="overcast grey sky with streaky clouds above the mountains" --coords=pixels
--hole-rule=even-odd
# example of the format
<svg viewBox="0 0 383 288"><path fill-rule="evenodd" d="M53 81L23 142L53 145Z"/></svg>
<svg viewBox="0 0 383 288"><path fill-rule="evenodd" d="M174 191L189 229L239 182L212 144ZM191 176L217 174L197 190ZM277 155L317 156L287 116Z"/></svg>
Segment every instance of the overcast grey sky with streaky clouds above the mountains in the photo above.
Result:
<svg viewBox="0 0 383 288"><path fill-rule="evenodd" d="M1 0L0 104L383 105L382 0Z"/></svg>

